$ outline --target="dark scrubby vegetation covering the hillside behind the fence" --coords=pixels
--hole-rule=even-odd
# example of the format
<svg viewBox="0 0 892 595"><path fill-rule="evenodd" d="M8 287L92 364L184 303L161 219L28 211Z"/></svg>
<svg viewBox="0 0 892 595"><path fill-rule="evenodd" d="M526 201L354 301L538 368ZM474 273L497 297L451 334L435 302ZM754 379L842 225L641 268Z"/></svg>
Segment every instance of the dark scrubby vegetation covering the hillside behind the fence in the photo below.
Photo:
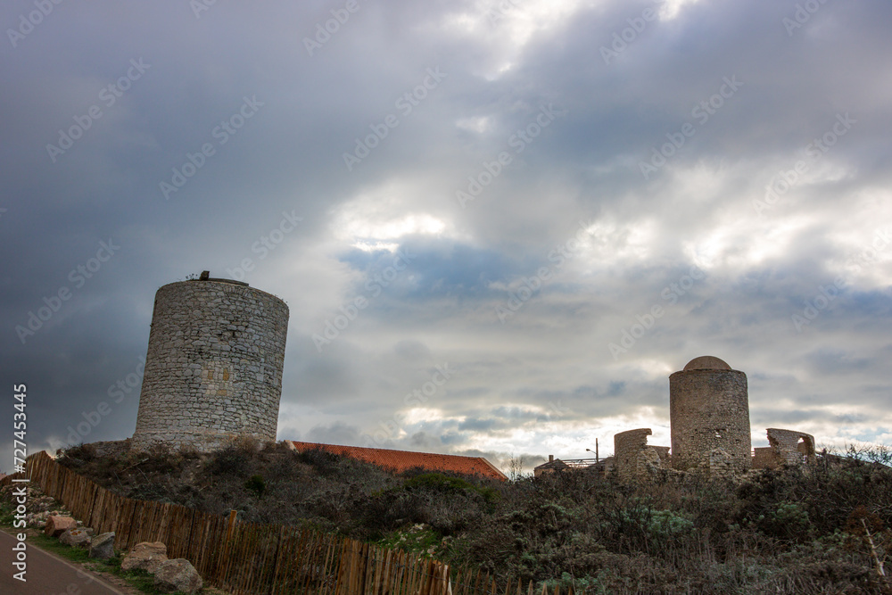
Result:
<svg viewBox="0 0 892 595"><path fill-rule="evenodd" d="M853 454L739 484L391 475L251 441L114 458L84 445L60 462L132 498L235 509L247 522L310 525L576 592L892 593L880 572L892 470Z"/></svg>

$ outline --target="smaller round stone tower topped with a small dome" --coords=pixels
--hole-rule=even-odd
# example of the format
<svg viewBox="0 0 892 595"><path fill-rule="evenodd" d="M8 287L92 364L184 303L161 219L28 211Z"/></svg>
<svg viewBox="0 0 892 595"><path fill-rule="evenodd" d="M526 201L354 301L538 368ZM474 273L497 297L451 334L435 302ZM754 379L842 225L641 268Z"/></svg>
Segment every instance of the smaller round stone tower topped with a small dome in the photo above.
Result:
<svg viewBox="0 0 892 595"><path fill-rule="evenodd" d="M669 419L673 468L744 473L751 467L747 375L723 360L691 359L669 376Z"/></svg>

